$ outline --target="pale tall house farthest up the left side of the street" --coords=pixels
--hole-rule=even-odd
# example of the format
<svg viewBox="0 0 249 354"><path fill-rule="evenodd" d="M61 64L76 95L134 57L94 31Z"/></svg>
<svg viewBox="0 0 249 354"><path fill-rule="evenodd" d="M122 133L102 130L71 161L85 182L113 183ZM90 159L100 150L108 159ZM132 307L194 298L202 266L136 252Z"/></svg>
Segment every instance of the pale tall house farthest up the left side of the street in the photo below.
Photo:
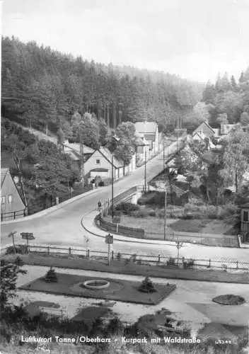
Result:
<svg viewBox="0 0 249 354"><path fill-rule="evenodd" d="M153 154L157 154L158 146L158 125L156 122L137 122L135 123L136 132L143 135L144 139L150 144L150 149Z"/></svg>

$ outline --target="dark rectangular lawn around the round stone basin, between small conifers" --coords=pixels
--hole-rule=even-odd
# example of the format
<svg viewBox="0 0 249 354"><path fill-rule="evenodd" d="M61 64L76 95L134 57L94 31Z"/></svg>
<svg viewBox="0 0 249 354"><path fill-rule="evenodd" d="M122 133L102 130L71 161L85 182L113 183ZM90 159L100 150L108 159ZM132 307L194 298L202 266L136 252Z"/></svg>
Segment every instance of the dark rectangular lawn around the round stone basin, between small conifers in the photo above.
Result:
<svg viewBox="0 0 249 354"><path fill-rule="evenodd" d="M140 282L132 282L129 280L112 280L106 278L110 282L110 287L103 290L90 290L80 287L78 283L86 280L97 280L98 278L83 277L80 275L71 275L57 273L57 282L45 282L44 278L37 278L33 282L29 282L19 289L28 291L39 291L51 293L54 295L65 295L75 297L110 299L122 302L134 302L137 304L155 305L161 302L170 292L175 290L175 285L154 284L156 292L145 293L139 292Z"/></svg>

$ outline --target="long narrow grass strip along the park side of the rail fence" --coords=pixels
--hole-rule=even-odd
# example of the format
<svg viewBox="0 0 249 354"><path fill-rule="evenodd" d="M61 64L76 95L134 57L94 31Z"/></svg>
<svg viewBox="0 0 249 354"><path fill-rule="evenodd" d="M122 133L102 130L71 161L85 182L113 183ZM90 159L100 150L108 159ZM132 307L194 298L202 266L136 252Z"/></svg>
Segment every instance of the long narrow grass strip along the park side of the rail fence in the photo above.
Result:
<svg viewBox="0 0 249 354"><path fill-rule="evenodd" d="M2 257L6 261L13 261L15 256ZM249 284L249 273L228 273L221 270L198 270L170 268L164 265L138 265L130 262L127 265L122 261L111 261L110 265L106 261L96 261L89 258L78 257L57 257L40 256L35 253L20 255L20 258L27 265L41 265L47 267L96 270L100 272L127 274L127 275L149 275L151 278L198 280L207 282L234 282Z"/></svg>

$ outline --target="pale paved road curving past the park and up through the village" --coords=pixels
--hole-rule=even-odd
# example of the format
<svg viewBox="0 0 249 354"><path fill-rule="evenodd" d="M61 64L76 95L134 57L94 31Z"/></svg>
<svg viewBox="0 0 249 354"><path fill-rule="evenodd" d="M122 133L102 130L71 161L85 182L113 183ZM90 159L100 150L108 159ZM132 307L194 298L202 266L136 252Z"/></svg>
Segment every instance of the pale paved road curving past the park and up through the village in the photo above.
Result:
<svg viewBox="0 0 249 354"><path fill-rule="evenodd" d="M175 148L175 144L166 148L166 156ZM148 180L156 176L163 169L163 154L156 156L147 163L146 174ZM142 185L144 183L144 166L134 171L130 176L126 176L121 181L117 181L114 186L115 195L127 190L128 186ZM50 215L37 217L36 219L26 220L24 222L1 225L1 244L2 246L11 242L8 239L8 233L11 231L33 232L37 244L57 244L71 246L86 246L86 232L81 227L81 219L89 212L95 210L98 200L106 200L111 197L111 186L100 188L96 193L87 195L80 200L71 202ZM91 249L105 249L105 241L98 236L89 236L88 247ZM18 242L18 236L16 242ZM164 253L175 256L176 249L173 246L162 246L151 244L131 244L128 242L115 242L115 251L127 253ZM229 248L210 248L209 246L186 246L182 249L185 257L195 258L229 258L233 260L248 261L249 249L229 249ZM212 253L212 254L210 254ZM183 256L183 254L182 254Z"/></svg>

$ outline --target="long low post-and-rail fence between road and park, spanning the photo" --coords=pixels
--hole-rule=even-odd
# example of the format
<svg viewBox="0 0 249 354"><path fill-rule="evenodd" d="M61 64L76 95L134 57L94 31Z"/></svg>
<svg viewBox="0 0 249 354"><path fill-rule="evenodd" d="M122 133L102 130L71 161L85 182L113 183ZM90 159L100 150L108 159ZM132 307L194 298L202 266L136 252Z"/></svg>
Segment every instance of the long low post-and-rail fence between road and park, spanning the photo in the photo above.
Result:
<svg viewBox="0 0 249 354"><path fill-rule="evenodd" d="M10 245L1 249L1 254L6 253ZM76 256L83 258L108 258L108 249L106 250L93 250L93 249L81 249L79 247L70 246L42 246L30 244L27 248L26 244L16 245L16 247L21 247L23 251L27 253L40 253L42 255L64 255L64 256ZM175 248L176 249L176 248ZM177 255L177 250L175 251ZM211 258L183 258L183 257L173 257L165 254L146 254L146 253L122 253L119 251L112 250L111 252L112 260L119 260L135 263L153 263L157 265L173 265L178 264L183 267L184 263L188 264L191 268L218 268L218 269L231 269L231 270L249 270L249 261L235 261L227 258L211 259Z"/></svg>

